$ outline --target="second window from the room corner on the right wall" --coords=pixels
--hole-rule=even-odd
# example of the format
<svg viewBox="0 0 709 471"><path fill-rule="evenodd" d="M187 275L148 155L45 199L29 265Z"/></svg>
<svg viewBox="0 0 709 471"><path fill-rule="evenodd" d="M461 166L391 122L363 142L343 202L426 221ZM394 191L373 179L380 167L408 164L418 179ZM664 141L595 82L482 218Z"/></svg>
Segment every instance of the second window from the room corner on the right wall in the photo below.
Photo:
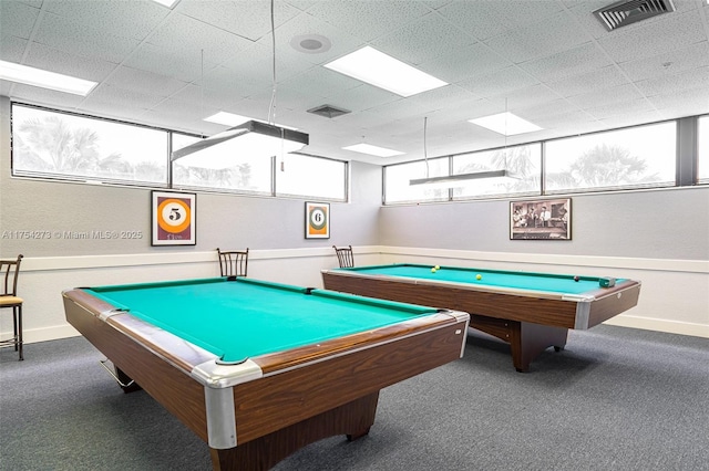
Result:
<svg viewBox="0 0 709 471"><path fill-rule="evenodd" d="M453 189L453 198L492 195L532 195L540 192L542 145L527 144L495 150L453 156L453 175L507 170L516 178L470 180Z"/></svg>

